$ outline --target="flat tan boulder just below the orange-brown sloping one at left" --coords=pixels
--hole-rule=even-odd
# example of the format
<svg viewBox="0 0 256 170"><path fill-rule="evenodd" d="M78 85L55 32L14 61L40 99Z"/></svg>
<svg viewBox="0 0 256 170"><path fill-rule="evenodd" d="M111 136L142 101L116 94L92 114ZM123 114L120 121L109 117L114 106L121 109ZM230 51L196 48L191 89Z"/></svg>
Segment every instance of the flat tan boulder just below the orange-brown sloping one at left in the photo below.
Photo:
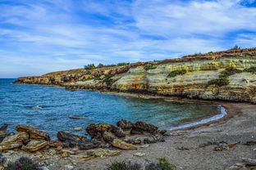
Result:
<svg viewBox="0 0 256 170"><path fill-rule="evenodd" d="M47 145L49 145L48 141L32 140L27 145L23 145L22 150L25 150L28 152L35 152L35 151L43 149Z"/></svg>

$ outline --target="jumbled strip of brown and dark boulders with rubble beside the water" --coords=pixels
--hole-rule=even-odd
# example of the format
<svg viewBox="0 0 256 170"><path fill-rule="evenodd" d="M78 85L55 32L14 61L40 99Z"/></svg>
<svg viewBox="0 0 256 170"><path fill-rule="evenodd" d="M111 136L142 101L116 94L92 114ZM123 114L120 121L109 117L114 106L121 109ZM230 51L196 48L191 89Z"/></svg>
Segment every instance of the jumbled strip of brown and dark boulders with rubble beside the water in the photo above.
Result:
<svg viewBox="0 0 256 170"><path fill-rule="evenodd" d="M7 134L7 124L0 128L0 169L21 156L30 156L44 169L74 169L77 162L117 156L121 150L138 150L149 144L164 142L165 130L158 130L149 123L117 122L117 127L108 123L91 123L85 129L86 136L71 132L57 132L57 141L51 141L47 132L28 125L17 125L16 133ZM136 155L136 154L135 154ZM141 153L137 153L141 156ZM59 164L58 161L70 160ZM62 166L62 168L52 168ZM86 168L85 168L86 169Z"/></svg>

